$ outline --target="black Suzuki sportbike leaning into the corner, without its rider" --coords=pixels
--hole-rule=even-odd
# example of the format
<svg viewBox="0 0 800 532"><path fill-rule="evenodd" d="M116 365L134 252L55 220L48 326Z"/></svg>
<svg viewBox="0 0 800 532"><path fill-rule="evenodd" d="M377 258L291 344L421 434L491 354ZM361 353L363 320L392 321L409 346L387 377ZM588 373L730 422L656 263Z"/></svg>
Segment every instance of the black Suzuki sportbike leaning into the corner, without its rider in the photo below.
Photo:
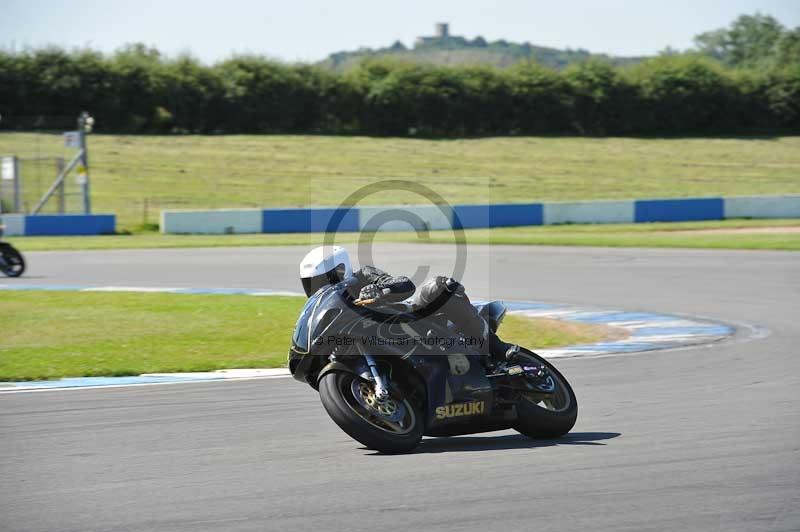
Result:
<svg viewBox="0 0 800 532"><path fill-rule="evenodd" d="M359 301L348 285L324 287L308 299L289 370L318 390L333 421L366 447L401 453L423 435L509 428L553 438L575 425L575 393L542 357L520 348L510 362L487 364L435 309ZM505 306L477 308L497 330Z"/></svg>

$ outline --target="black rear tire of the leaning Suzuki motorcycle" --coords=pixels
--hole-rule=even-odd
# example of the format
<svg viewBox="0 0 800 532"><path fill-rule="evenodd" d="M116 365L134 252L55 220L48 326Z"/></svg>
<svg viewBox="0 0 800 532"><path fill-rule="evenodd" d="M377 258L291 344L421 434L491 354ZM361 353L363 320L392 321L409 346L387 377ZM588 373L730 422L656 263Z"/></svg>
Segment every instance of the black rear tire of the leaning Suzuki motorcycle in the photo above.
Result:
<svg viewBox="0 0 800 532"><path fill-rule="evenodd" d="M517 403L518 419L514 429L530 438L563 436L572 430L578 419L578 400L575 398L575 392L567 379L552 364L536 353L522 350L516 355L514 361L524 363L526 359L547 367L557 386L557 395L554 397L563 404L558 404L558 408L554 410L541 406L542 403L535 404L533 398L523 397Z"/></svg>

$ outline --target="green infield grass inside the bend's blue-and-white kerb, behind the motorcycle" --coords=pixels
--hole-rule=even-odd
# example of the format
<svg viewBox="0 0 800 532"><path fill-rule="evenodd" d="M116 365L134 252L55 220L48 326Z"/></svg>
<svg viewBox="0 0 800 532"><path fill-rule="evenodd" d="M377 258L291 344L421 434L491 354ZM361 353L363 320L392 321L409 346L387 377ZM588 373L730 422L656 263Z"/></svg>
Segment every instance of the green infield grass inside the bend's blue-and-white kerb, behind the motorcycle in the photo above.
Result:
<svg viewBox="0 0 800 532"><path fill-rule="evenodd" d="M0 380L280 367L301 297L6 292ZM606 328L509 316L528 346L593 342Z"/></svg>

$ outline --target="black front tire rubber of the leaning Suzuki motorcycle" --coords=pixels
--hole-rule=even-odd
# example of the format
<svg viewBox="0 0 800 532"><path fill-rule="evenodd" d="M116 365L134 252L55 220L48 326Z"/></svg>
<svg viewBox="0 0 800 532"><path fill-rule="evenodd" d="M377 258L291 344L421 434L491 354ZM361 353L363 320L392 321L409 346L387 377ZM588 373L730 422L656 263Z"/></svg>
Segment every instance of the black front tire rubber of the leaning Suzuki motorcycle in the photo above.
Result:
<svg viewBox="0 0 800 532"><path fill-rule="evenodd" d="M357 412L360 405L354 394L350 393L353 380L366 382L357 375L343 371L327 373L319 382L322 406L339 428L367 448L382 453L406 453L417 447L425 430L424 419L420 412L409 401L402 399L403 408L408 409L412 416L412 421L405 429L407 432L400 434L382 429ZM371 383L369 385L371 386ZM370 415L363 407L362 410L367 416Z"/></svg>

